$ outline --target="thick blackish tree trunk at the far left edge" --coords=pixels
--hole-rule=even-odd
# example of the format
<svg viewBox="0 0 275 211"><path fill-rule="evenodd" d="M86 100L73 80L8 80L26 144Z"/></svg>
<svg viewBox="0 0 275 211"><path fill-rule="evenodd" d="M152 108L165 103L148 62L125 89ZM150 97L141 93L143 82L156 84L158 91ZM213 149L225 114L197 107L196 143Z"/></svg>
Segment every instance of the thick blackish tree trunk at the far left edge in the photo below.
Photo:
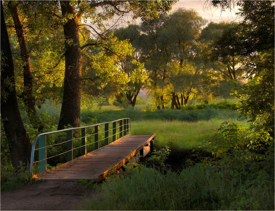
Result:
<svg viewBox="0 0 275 211"><path fill-rule="evenodd" d="M9 151L13 167L18 167L20 161L30 163L31 142L24 128L15 90L13 58L10 49L9 36L5 24L3 4L1 1L0 37L1 37L1 118L9 142ZM4 65L3 65L4 64Z"/></svg>

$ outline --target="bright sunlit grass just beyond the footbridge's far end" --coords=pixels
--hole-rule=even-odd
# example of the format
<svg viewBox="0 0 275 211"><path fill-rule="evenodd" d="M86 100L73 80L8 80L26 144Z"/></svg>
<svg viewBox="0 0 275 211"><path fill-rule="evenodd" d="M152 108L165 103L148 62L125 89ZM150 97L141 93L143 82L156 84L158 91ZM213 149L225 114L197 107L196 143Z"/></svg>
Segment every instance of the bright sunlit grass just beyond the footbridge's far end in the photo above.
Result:
<svg viewBox="0 0 275 211"><path fill-rule="evenodd" d="M130 134L143 135L156 133L156 148L193 148L199 146L204 139L211 138L223 119L201 120L196 122L143 120L132 121ZM246 120L238 121L245 126Z"/></svg>

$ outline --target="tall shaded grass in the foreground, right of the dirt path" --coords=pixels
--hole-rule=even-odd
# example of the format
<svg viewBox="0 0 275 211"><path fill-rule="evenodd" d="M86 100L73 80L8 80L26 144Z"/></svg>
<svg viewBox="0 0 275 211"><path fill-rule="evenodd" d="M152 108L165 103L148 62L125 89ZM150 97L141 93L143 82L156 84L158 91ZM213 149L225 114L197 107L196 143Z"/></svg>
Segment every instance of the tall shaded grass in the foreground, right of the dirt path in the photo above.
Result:
<svg viewBox="0 0 275 211"><path fill-rule="evenodd" d="M198 164L180 174L143 167L101 185L83 210L273 210L272 180L232 180L230 169Z"/></svg>

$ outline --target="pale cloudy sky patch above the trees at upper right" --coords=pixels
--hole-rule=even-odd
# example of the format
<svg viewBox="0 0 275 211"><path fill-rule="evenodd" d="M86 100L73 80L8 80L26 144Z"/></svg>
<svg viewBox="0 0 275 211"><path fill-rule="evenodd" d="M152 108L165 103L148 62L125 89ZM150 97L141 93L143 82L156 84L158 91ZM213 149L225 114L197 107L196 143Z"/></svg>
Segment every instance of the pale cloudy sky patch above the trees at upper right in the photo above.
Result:
<svg viewBox="0 0 275 211"><path fill-rule="evenodd" d="M173 5L172 11L179 7L184 7L186 9L195 9L200 16L208 20L208 23L215 22L219 23L221 21L236 21L239 22L239 18L235 14L238 12L238 8L227 10L221 13L221 10L214 7L208 7L210 1L198 1L198 0L180 0L175 5Z"/></svg>

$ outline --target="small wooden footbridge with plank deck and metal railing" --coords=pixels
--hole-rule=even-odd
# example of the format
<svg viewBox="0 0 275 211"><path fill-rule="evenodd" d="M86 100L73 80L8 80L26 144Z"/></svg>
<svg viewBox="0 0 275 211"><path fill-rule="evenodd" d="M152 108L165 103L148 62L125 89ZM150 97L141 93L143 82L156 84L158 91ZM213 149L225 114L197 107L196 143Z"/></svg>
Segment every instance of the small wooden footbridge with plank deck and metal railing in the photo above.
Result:
<svg viewBox="0 0 275 211"><path fill-rule="evenodd" d="M130 127L130 118L123 118L39 134L32 145L30 175L43 180L99 182L108 173L119 171L133 156L138 155L142 161L152 152L156 134L130 135ZM60 153L62 150L64 152ZM48 164L56 163L56 160L66 161L56 167ZM40 173L34 175L33 172L38 171L37 164Z"/></svg>

